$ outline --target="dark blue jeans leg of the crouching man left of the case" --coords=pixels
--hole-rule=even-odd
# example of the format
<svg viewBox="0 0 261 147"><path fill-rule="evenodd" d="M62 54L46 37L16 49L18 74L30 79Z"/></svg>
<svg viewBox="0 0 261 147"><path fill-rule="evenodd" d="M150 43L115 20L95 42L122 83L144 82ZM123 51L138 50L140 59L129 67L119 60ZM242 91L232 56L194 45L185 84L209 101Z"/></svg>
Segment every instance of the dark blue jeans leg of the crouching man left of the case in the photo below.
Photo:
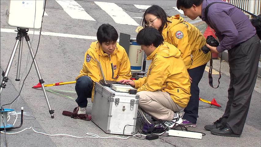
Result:
<svg viewBox="0 0 261 147"><path fill-rule="evenodd" d="M75 100L79 107L87 107L87 98L92 97L93 81L88 76L79 77L76 81L75 91L78 95Z"/></svg>

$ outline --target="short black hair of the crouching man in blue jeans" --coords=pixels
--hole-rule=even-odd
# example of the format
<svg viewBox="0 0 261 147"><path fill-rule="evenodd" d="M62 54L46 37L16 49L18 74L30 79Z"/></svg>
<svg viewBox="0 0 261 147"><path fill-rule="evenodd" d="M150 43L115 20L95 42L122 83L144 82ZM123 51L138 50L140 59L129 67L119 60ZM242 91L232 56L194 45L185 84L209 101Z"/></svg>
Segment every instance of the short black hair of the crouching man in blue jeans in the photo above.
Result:
<svg viewBox="0 0 261 147"><path fill-rule="evenodd" d="M101 44L103 42L115 42L118 39L116 29L110 24L102 24L97 30L97 40Z"/></svg>

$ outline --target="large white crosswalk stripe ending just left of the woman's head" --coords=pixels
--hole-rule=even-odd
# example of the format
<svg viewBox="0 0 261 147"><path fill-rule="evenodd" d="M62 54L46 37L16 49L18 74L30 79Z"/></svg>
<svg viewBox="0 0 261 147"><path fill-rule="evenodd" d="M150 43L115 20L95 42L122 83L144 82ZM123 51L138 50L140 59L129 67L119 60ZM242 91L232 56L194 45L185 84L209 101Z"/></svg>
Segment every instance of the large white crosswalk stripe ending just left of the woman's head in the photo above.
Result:
<svg viewBox="0 0 261 147"><path fill-rule="evenodd" d="M95 2L101 9L108 13L117 24L135 25L139 24L132 19L121 7L111 2Z"/></svg>

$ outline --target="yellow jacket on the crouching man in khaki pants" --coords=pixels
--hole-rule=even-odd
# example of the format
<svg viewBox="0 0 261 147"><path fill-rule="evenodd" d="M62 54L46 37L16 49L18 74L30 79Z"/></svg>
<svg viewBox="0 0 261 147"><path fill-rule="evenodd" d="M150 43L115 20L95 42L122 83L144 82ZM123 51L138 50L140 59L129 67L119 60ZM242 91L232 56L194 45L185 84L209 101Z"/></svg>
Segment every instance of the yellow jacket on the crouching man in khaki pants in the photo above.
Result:
<svg viewBox="0 0 261 147"><path fill-rule="evenodd" d="M180 51L167 42L158 46L148 57L152 60L146 77L134 80L137 91L168 92L180 107L186 107L191 96L187 68Z"/></svg>

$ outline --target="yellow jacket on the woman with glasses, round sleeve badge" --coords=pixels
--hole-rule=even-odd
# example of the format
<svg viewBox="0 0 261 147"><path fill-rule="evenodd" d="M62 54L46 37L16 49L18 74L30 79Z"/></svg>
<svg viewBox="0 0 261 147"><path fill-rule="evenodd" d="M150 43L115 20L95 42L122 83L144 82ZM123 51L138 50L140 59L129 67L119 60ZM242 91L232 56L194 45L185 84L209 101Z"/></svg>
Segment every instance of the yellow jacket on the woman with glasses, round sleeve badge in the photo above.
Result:
<svg viewBox="0 0 261 147"><path fill-rule="evenodd" d="M187 69L192 69L206 64L211 53L204 54L201 48L206 44L205 37L199 29L188 22L185 22L180 15L167 18L168 26L164 26L162 36L164 41L174 45L181 52L181 57L185 62Z"/></svg>

